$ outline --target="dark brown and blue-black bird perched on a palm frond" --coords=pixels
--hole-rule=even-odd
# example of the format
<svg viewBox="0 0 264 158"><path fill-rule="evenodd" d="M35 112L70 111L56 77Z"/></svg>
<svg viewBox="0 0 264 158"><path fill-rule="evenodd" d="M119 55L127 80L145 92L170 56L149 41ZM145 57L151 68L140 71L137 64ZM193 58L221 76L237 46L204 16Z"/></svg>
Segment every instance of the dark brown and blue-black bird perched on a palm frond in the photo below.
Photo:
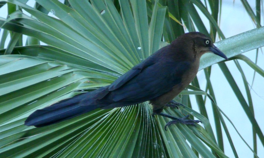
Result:
<svg viewBox="0 0 264 158"><path fill-rule="evenodd" d="M173 119L166 126L199 123L198 120L177 118L161 111L169 102L177 104L172 99L191 83L198 72L200 57L206 52L227 59L206 35L200 32L185 33L131 68L111 85L37 110L28 116L25 125L43 127L97 108L124 107L145 101L152 104L153 114Z"/></svg>

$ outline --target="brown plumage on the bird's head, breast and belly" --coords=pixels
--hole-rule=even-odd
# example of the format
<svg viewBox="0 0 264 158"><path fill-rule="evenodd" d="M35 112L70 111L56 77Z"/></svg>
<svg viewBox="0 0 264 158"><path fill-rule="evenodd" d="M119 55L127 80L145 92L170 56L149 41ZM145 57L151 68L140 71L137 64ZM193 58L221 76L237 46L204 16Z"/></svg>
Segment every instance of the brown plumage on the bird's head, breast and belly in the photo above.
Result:
<svg viewBox="0 0 264 158"><path fill-rule="evenodd" d="M199 68L201 56L210 51L205 44L209 40L210 47L215 47L211 44L209 37L199 32L190 32L178 37L173 41L167 49L175 51L163 51L163 56L172 58L175 62L188 62L189 67L181 76L181 82L173 86L169 92L150 100L153 105L153 112L159 114L165 105L175 98L187 85L189 85L196 76Z"/></svg>

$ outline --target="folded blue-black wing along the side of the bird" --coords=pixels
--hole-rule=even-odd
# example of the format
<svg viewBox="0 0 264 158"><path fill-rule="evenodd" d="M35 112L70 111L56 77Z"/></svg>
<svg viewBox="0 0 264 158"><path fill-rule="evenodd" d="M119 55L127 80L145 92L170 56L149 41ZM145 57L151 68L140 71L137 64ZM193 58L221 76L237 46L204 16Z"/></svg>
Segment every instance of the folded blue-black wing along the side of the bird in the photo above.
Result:
<svg viewBox="0 0 264 158"><path fill-rule="evenodd" d="M103 109L132 105L163 95L182 82L182 75L189 67L190 63L185 61L159 61L148 66L118 89L111 91L104 99L114 102Z"/></svg>

